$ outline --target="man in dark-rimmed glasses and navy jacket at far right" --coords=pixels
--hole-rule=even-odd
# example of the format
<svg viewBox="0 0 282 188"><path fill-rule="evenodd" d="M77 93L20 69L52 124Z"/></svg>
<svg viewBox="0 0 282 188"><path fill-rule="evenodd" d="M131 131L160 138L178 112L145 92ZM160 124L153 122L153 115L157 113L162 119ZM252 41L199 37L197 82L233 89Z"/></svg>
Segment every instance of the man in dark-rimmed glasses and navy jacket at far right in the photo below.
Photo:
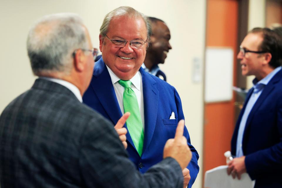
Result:
<svg viewBox="0 0 282 188"><path fill-rule="evenodd" d="M228 174L247 172L258 187L282 187L282 42L271 29L254 28L237 58L242 75L255 75L254 86L236 123Z"/></svg>

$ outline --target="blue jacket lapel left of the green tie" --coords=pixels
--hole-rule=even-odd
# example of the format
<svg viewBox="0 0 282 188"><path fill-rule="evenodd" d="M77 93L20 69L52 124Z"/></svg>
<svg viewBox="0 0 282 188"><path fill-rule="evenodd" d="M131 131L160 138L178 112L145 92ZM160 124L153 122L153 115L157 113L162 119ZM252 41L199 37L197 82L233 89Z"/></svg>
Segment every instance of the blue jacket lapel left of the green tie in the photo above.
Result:
<svg viewBox="0 0 282 188"><path fill-rule="evenodd" d="M116 124L122 116L122 112L117 102L117 96L115 95L115 89L113 87L110 74L102 58L100 58L100 60L95 63L93 79L91 80L90 85L95 91L101 105L107 112L108 116L110 117L112 122ZM127 128L126 125L124 127ZM126 133L126 138L127 141L133 147L135 147L128 130Z"/></svg>

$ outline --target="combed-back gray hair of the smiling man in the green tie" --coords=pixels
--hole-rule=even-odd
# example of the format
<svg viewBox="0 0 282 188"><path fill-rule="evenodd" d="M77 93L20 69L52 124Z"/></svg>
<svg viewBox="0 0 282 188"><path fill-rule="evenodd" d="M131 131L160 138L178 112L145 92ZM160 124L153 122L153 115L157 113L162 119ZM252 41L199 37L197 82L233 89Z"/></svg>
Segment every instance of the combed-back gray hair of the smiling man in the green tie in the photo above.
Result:
<svg viewBox="0 0 282 188"><path fill-rule="evenodd" d="M137 10L135 10L132 7L129 7L129 6L118 7L115 10L110 11L108 14L106 14L106 16L103 20L103 23L100 27L100 35L102 37L105 37L106 34L108 33L110 21L115 16L128 16L128 17L134 17L134 18L142 18L144 20L146 28L147 28L147 40L150 39L150 36L152 34L152 27L151 27L151 24L150 24L150 20L144 14L142 14L141 12L138 12Z"/></svg>

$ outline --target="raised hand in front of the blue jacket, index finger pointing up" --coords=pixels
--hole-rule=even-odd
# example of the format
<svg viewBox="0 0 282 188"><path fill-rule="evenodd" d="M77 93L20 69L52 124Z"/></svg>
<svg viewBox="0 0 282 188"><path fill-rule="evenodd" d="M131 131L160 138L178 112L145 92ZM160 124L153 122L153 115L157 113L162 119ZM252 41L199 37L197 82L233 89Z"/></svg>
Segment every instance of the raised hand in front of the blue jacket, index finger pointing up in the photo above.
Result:
<svg viewBox="0 0 282 188"><path fill-rule="evenodd" d="M174 158L182 170L187 167L192 158L191 150L187 145L187 139L183 136L183 132L184 120L180 120L174 138L167 140L164 145L164 158Z"/></svg>

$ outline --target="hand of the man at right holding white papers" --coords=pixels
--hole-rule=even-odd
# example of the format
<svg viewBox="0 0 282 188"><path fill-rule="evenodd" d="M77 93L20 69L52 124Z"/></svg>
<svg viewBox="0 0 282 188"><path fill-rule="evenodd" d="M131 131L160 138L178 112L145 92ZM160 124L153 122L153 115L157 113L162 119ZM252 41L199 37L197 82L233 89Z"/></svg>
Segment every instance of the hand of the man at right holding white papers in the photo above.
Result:
<svg viewBox="0 0 282 188"><path fill-rule="evenodd" d="M227 174L231 174L233 179L235 179L236 176L238 179L241 179L241 174L247 172L245 166L245 157L246 156L236 157L227 164Z"/></svg>

